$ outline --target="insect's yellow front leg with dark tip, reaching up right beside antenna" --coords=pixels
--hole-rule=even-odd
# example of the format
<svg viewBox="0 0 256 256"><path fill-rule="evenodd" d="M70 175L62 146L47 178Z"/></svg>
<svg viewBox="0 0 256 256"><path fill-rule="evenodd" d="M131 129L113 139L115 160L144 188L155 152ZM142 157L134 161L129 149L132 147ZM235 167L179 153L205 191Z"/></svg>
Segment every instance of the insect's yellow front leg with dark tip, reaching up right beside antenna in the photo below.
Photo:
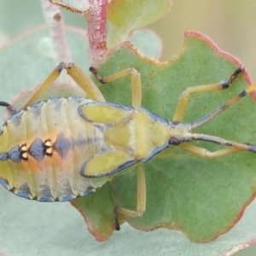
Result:
<svg viewBox="0 0 256 256"><path fill-rule="evenodd" d="M220 82L218 84L206 84L206 85L199 85L189 87L183 91L182 95L177 102L177 108L174 113L173 121L181 122L183 119L183 114L188 106L189 103L189 96L191 93L194 92L206 92L206 91L213 91L213 90L224 90L230 87L230 84L236 79L237 75L244 70L244 67L238 67L234 73L230 75L230 79Z"/></svg>

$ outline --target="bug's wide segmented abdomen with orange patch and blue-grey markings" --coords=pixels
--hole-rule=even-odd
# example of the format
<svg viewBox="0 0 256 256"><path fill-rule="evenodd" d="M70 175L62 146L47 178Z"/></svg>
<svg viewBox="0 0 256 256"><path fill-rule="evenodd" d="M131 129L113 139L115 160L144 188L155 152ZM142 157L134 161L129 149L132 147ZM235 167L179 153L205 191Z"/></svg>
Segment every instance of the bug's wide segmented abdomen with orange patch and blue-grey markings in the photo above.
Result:
<svg viewBox="0 0 256 256"><path fill-rule="evenodd" d="M108 177L80 176L104 144L102 131L83 119L79 97L52 98L15 113L0 136L0 183L38 201L69 201L94 192Z"/></svg>

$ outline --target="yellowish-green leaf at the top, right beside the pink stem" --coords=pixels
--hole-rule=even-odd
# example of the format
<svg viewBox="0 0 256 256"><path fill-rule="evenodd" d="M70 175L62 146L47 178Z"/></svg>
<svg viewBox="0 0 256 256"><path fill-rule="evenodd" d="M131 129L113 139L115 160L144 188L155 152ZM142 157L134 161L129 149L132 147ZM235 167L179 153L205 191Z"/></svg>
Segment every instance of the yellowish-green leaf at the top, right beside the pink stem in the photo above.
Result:
<svg viewBox="0 0 256 256"><path fill-rule="evenodd" d="M125 41L132 30L159 20L171 4L170 0L111 1L108 5L108 47Z"/></svg>

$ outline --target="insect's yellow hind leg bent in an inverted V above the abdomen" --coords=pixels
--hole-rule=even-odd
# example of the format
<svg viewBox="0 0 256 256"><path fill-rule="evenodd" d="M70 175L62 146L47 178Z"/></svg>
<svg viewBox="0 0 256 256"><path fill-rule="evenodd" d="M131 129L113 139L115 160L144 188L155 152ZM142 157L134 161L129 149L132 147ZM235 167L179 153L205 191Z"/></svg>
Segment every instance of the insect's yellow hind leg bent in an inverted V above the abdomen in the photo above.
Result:
<svg viewBox="0 0 256 256"><path fill-rule="evenodd" d="M96 84L94 84L79 67L77 67L72 62L61 62L57 67L55 67L52 73L49 74L48 78L44 80L44 83L40 84L38 89L33 92L32 96L30 96L30 98L26 101L23 108L27 108L33 102L36 102L38 97L44 93L44 90L47 90L49 85L55 82L55 79L59 77L63 69L67 70L67 73L77 84L79 84L79 86L86 92L90 99L99 102L105 102L105 99L102 96L101 91L96 87Z"/></svg>

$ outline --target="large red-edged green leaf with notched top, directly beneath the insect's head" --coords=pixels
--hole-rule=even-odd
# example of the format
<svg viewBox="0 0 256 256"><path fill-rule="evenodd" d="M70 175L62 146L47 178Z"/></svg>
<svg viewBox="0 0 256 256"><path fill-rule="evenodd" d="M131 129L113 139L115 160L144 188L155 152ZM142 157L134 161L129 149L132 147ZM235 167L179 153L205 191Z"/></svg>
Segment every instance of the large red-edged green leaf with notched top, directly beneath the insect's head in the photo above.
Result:
<svg viewBox="0 0 256 256"><path fill-rule="evenodd" d="M102 64L102 76L127 67L141 73L143 107L172 120L178 97L188 86L212 84L228 79L242 66L230 55L219 51L198 33L187 33L180 55L167 63L140 57L127 44L113 50ZM199 119L236 96L247 86L247 73L230 90L194 94L184 121ZM130 78L101 86L109 102L131 105ZM237 142L255 143L253 99L249 96L203 125L196 132L224 137ZM209 150L220 148L211 143L195 143ZM147 179L147 210L143 218L127 218L140 230L166 227L183 230L192 241L212 241L230 230L254 197L256 159L243 152L205 160L178 148L170 148L144 166ZM118 206L135 209L136 174L131 168L114 175L111 183ZM200 227L200 228L199 228Z"/></svg>

